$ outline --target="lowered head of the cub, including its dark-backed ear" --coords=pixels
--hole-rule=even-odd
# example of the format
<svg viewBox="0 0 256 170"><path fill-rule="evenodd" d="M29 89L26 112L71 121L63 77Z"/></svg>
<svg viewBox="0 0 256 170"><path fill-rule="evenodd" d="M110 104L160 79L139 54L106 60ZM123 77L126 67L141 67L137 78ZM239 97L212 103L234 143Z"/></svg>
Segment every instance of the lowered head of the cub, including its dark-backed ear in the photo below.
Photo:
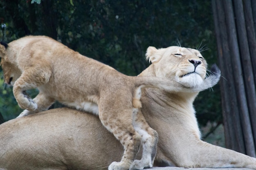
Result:
<svg viewBox="0 0 256 170"><path fill-rule="evenodd" d="M0 42L0 66L4 72L4 82L9 85L13 85L16 79L21 75L21 71L16 66L15 61L11 61L9 57L9 46L4 42Z"/></svg>

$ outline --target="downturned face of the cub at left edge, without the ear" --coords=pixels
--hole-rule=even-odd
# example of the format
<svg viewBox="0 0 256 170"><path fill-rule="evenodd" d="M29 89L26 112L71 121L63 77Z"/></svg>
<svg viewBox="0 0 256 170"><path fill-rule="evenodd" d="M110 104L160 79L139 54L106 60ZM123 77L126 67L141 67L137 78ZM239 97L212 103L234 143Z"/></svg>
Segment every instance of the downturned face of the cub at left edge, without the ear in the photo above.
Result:
<svg viewBox="0 0 256 170"><path fill-rule="evenodd" d="M13 86L14 82L20 77L21 71L15 64L6 61L4 58L1 58L0 66L2 66L4 73L4 82Z"/></svg>

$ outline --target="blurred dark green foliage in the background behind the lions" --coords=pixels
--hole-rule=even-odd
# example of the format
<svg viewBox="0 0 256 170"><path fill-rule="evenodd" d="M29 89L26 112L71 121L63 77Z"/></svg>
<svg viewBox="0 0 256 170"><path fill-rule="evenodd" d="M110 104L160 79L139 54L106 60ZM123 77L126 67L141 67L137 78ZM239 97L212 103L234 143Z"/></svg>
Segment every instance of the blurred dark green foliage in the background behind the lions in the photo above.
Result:
<svg viewBox="0 0 256 170"><path fill-rule="evenodd" d="M33 1L38 2L38 1ZM138 75L148 63L148 46L177 45L208 50L202 55L216 63L211 1L205 0L31 0L0 1L0 22L7 28L1 40L11 42L25 35L47 35L79 53ZM0 68L1 71L1 68ZM2 71L1 71L2 72ZM2 73L0 86L3 86ZM220 89L201 92L195 101L200 124L222 121ZM0 91L0 112L8 120L21 110L11 89Z"/></svg>

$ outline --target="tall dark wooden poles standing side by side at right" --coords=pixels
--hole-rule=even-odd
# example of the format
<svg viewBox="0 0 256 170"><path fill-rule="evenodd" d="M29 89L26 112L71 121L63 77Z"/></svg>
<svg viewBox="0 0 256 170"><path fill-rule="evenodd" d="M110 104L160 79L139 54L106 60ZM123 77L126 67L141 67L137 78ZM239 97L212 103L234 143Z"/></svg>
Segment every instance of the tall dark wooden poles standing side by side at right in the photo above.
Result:
<svg viewBox="0 0 256 170"><path fill-rule="evenodd" d="M256 157L256 20L250 0L212 0L227 148Z"/></svg>

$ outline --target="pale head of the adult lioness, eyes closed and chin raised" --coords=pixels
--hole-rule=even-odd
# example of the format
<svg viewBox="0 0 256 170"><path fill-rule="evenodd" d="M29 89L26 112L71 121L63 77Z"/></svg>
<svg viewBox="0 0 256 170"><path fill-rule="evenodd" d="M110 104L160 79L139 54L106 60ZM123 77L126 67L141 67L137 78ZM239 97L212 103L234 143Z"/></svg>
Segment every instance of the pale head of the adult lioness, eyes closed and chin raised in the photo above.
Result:
<svg viewBox="0 0 256 170"><path fill-rule="evenodd" d="M156 49L150 46L146 59L154 64L157 77L174 79L187 87L199 86L206 77L207 62L195 49L180 46Z"/></svg>

